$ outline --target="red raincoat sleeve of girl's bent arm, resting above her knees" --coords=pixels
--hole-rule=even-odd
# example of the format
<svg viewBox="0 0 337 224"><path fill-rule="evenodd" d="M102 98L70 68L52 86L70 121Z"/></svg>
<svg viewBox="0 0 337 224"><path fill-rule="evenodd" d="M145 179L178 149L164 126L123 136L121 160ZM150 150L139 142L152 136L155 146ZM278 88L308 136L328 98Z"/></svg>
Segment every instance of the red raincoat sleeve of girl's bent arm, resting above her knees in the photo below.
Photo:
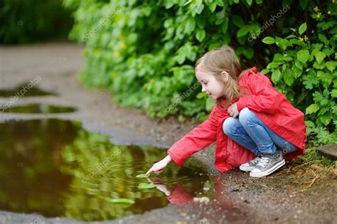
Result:
<svg viewBox="0 0 337 224"><path fill-rule="evenodd" d="M262 73L250 73L240 80L241 85L250 88L251 95L240 97L237 101L237 110L240 112L244 107L248 107L258 112L275 113L279 104L284 100L284 95L278 92L267 76Z"/></svg>

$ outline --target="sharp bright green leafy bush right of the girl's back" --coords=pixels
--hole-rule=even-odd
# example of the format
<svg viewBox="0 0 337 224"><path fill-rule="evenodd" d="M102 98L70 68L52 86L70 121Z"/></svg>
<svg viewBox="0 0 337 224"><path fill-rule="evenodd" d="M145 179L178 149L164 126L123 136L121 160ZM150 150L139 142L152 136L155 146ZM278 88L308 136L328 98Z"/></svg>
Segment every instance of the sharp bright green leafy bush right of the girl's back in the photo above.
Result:
<svg viewBox="0 0 337 224"><path fill-rule="evenodd" d="M305 111L308 134L326 144L337 139L337 21L335 6L314 8L310 29L306 23L286 38L265 37L262 42L276 44L264 73L272 73L272 82L299 109ZM333 13L331 13L333 11ZM331 132L331 134L329 134Z"/></svg>

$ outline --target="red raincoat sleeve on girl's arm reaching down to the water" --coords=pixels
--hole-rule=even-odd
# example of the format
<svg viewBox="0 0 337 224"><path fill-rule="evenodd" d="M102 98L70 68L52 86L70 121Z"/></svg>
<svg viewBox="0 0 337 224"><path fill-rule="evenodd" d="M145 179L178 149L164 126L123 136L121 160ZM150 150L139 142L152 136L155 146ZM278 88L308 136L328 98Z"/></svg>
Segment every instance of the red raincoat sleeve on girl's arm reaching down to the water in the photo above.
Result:
<svg viewBox="0 0 337 224"><path fill-rule="evenodd" d="M183 165L189 156L216 141L219 118L220 112L218 112L217 105L215 105L205 122L188 132L171 146L167 154L171 156L177 166Z"/></svg>

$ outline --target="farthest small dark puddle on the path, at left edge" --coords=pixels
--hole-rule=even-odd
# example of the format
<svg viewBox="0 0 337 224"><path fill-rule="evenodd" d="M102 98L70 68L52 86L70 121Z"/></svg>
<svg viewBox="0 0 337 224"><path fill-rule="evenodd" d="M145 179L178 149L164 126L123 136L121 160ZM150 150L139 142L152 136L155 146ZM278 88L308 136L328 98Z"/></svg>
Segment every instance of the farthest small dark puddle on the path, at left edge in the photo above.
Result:
<svg viewBox="0 0 337 224"><path fill-rule="evenodd" d="M46 96L46 95L56 95L53 92L46 92L31 83L22 83L12 89L1 89L0 97L34 97L34 96Z"/></svg>

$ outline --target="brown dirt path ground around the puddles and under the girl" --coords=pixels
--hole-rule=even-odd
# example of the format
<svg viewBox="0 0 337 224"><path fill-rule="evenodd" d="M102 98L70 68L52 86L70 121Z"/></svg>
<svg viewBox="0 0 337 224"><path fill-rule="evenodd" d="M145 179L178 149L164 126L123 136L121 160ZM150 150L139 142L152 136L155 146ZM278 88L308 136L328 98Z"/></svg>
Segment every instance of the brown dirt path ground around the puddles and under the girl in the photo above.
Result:
<svg viewBox="0 0 337 224"><path fill-rule="evenodd" d="M79 119L86 129L113 136L114 144L166 148L198 125L197 122L181 124L173 118L151 119L140 110L113 105L113 96L107 91L83 87L77 80L85 66L83 49L73 43L1 46L0 89L40 77L38 87L58 93L58 96L19 98L15 105L45 102L77 107L78 110L71 114L0 114L0 121L51 117ZM0 103L8 100L0 98ZM215 144L194 154L193 158L203 164L220 186L214 189L215 201L207 205L169 205L109 223L337 223L336 169L306 164L297 158L264 178L250 178L248 173L240 170L220 174L213 165L214 149ZM0 223L30 223L38 218L43 223L82 223L43 218L38 214L0 212Z"/></svg>

